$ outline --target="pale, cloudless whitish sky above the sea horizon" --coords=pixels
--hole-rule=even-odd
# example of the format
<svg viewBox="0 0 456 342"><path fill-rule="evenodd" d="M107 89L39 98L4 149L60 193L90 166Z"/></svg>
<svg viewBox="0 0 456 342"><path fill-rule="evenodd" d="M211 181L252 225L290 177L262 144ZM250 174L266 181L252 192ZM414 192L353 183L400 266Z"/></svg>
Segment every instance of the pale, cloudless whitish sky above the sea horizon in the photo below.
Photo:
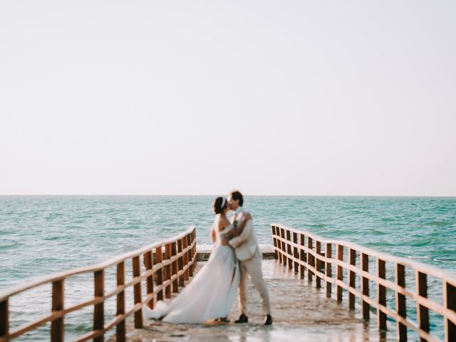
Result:
<svg viewBox="0 0 456 342"><path fill-rule="evenodd" d="M456 195L456 1L0 2L0 194Z"/></svg>

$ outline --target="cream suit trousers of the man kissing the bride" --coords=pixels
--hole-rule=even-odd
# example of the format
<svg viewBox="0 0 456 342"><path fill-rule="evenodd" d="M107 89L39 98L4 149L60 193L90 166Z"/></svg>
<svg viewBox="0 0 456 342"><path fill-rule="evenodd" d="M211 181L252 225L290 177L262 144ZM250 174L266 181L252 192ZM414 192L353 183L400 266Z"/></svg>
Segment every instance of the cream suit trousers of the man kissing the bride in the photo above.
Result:
<svg viewBox="0 0 456 342"><path fill-rule="evenodd" d="M247 311L247 283L249 274L252 283L257 289L261 297L261 305L263 306L264 314L271 314L271 305L269 304L269 291L266 287L266 282L263 279L263 271L261 271L261 257L259 253L245 261L239 261L241 269L241 279L239 282L238 296L239 296L239 314L245 314Z"/></svg>

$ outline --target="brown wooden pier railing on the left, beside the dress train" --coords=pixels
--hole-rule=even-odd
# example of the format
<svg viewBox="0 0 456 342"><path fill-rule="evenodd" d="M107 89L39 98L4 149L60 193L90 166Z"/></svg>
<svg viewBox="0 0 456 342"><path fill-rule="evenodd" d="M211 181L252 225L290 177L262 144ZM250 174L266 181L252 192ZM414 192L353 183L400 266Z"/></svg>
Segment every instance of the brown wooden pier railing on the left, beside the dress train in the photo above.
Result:
<svg viewBox="0 0 456 342"><path fill-rule="evenodd" d="M150 244L98 265L53 274L4 291L0 294L0 342L6 342L21 336L47 322L51 322L51 341L63 341L65 315L91 305L93 305L94 309L93 330L75 341L82 342L90 339L103 341L105 332L113 327L116 328L117 341L125 341L125 318L134 315L135 328L142 328L142 306L147 305L153 308L154 299L157 301L162 300L163 294L165 294L165 298L171 298L171 293L178 292L179 286L183 286L184 281L187 281L189 276L193 276L197 260L195 238L195 227L190 227L187 232L177 237ZM143 273L140 265L141 257L145 266L145 272ZM133 274L131 281L125 282L125 262L128 260L132 262ZM105 269L110 266L116 266L115 278L117 283L113 291L105 293ZM93 299L66 307L63 303L63 289L66 279L87 273L93 273ZM145 298L141 294L141 281L143 279L146 282L147 296ZM51 314L10 331L10 297L22 294L24 291L34 289L43 284L52 284ZM130 286L133 286L134 305L133 309L125 312L125 289ZM112 296L117 296L115 317L105 323L105 301Z"/></svg>

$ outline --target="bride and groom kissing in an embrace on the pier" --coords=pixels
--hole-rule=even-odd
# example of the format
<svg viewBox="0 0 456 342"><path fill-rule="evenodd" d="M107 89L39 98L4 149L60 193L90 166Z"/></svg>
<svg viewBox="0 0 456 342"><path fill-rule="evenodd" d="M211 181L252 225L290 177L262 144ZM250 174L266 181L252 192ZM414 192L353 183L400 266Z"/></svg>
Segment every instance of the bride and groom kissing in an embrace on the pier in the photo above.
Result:
<svg viewBox="0 0 456 342"><path fill-rule="evenodd" d="M241 192L233 191L228 199L214 201L212 242L214 249L202 269L169 305L159 301L155 309L145 306L145 317L169 323L228 322L236 292L239 296L239 319L247 323L247 281L249 274L259 292L266 319L271 325L269 292L261 271L261 251L255 237L252 217L242 208ZM231 222L227 212L234 211Z"/></svg>

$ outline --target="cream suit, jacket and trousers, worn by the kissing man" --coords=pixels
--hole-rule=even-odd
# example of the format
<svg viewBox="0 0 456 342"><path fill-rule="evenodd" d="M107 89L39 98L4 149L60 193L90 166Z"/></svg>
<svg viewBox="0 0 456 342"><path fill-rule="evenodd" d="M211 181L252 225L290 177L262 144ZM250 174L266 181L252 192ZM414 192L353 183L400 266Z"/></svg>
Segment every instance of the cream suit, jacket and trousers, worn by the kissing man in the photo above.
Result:
<svg viewBox="0 0 456 342"><path fill-rule="evenodd" d="M244 209L242 207L237 208L235 218L239 223L244 219ZM247 280L250 274L252 283L261 297L264 314L270 315L269 291L263 279L263 272L261 271L261 250L258 246L257 237L255 237L252 219L247 222L244 230L238 237L229 240L229 244L234 248L241 269L241 280L238 291L239 314L245 314L247 311Z"/></svg>

